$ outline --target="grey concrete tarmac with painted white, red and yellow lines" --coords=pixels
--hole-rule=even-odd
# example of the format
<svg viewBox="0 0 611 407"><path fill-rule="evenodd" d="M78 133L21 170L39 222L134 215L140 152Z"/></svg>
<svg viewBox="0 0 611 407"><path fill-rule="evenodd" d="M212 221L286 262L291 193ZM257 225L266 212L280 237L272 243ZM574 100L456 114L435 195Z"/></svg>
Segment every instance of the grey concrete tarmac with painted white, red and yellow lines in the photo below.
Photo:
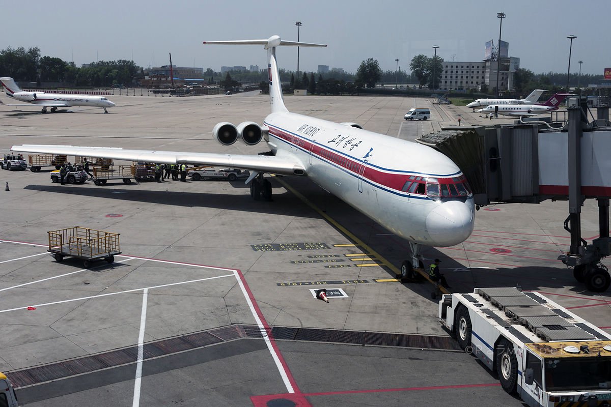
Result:
<svg viewBox="0 0 611 407"><path fill-rule="evenodd" d="M139 92L136 92L139 94ZM109 114L0 105L0 152L20 144L257 154L222 146L214 124L260 123L268 96L112 96ZM146 95L146 92L144 92ZM286 96L291 112L413 140L442 127L513 123L432 99ZM404 121L411 107L428 121ZM68 158L70 160L70 157ZM116 164L128 164L119 163ZM401 283L406 241L307 178L273 177L273 201L243 181L53 184L0 171L0 371L26 406L520 406L437 320L428 283ZM586 201L583 235L598 235ZM557 260L568 203L476 214L461 245L426 248L454 292L519 285L611 330L609 293ZM113 264L46 252L48 231L120 233ZM338 297L329 303L312 290Z"/></svg>

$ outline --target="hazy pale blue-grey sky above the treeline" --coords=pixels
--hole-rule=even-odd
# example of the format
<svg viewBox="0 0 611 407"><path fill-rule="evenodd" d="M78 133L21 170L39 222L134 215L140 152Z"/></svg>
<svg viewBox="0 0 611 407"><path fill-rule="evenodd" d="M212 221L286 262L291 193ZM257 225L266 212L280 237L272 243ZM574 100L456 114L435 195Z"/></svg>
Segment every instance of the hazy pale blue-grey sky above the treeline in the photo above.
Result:
<svg viewBox="0 0 611 407"><path fill-rule="evenodd" d="M499 38L498 12L504 12L502 40L522 68L535 73L566 72L574 34L571 72L602 74L611 67L608 36L611 4L604 0L377 0L256 1L140 0L4 2L1 48L38 46L42 56L77 65L96 60L131 59L142 67L172 63L221 69L221 65L266 67L261 46L202 45L208 40L268 38L277 34L327 48L300 48L299 70L318 65L357 70L373 57L382 70L409 71L416 54L447 61L477 61L485 42ZM280 68L295 70L296 48L280 48ZM0 73L1 74L1 73Z"/></svg>

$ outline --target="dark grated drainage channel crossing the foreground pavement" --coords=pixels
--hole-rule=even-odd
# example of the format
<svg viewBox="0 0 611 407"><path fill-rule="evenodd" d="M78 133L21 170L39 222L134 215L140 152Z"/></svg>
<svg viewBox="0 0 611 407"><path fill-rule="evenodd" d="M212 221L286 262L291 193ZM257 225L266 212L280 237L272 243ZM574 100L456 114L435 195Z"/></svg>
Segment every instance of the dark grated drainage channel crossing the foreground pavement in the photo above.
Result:
<svg viewBox="0 0 611 407"><path fill-rule="evenodd" d="M391 334L365 331L327 330L274 326L268 336L277 340L326 342L331 344L371 345L400 348L459 351L456 341L447 336ZM192 333L144 344L144 360L172 355L208 345L221 344L241 338L263 338L257 325L230 325L214 330ZM15 388L34 386L83 373L135 363L137 346L112 350L97 355L15 370L6 375Z"/></svg>

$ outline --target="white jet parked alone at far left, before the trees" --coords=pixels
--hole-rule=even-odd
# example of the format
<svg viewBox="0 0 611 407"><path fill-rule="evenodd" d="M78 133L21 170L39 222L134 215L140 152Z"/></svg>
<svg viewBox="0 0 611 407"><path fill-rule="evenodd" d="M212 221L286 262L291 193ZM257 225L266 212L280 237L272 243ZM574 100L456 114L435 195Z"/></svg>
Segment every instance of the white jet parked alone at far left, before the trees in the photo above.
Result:
<svg viewBox="0 0 611 407"><path fill-rule="evenodd" d="M37 104L42 106L42 113L46 113L47 107L51 107L51 113L57 110L57 107L70 106L95 106L104 109L104 113L108 113L108 107L115 106L104 96L97 95L70 95L67 93L45 93L45 92L25 92L21 90L12 77L0 77L4 92L9 98L17 99L21 102ZM1 103L1 102L0 102ZM6 103L5 103L6 104ZM6 106L30 106L29 104L6 104Z"/></svg>

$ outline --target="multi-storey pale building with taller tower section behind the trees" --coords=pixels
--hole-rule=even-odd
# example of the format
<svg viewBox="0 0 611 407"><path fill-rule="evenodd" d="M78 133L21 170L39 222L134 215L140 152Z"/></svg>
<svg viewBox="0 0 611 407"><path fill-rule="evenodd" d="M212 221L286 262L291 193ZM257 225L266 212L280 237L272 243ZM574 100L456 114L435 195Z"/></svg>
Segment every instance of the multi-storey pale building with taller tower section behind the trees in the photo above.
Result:
<svg viewBox="0 0 611 407"><path fill-rule="evenodd" d="M500 93L513 90L513 75L520 67L520 59L508 56L509 43L500 41L500 47L494 47L493 41L486 43L484 59L474 62L442 62L442 75L439 88L444 90L481 90L486 85L489 90L497 86L497 68L499 68Z"/></svg>

